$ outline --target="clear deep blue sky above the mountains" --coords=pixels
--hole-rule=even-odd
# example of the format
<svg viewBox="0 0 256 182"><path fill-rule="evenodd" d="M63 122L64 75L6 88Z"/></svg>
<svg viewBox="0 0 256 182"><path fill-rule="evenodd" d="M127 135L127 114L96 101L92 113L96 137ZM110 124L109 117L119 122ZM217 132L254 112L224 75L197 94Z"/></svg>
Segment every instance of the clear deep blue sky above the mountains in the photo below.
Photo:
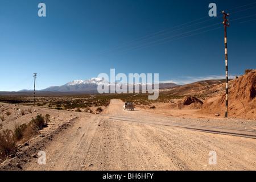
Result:
<svg viewBox="0 0 256 182"><path fill-rule="evenodd" d="M254 1L1 0L0 90L33 89L33 73L44 89L111 68L176 84L225 78L222 10L230 14L229 74L240 76L256 68Z"/></svg>

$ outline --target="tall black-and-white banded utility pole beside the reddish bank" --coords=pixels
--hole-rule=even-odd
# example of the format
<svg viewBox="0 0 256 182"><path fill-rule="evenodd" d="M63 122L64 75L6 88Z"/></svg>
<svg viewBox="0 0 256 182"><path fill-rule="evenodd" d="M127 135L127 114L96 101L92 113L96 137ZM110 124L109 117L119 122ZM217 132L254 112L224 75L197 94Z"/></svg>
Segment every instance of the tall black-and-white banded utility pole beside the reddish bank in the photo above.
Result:
<svg viewBox="0 0 256 182"><path fill-rule="evenodd" d="M228 118L228 94L229 94L229 75L228 75L228 43L226 40L226 26L229 27L229 20L226 19L226 16L229 16L229 14L225 14L224 11L222 11L222 14L224 15L224 35L225 35L225 63L226 63L226 108L225 108L225 118ZM228 24L227 24L228 23Z"/></svg>

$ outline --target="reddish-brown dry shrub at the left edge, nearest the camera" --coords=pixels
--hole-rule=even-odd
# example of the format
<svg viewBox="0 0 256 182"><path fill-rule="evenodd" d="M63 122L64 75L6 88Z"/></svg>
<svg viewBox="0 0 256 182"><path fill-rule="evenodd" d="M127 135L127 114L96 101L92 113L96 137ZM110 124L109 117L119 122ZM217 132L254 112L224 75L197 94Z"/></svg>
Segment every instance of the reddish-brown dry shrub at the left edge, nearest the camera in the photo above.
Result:
<svg viewBox="0 0 256 182"><path fill-rule="evenodd" d="M4 130L0 133L0 160L5 160L15 150L16 142L13 136L11 130Z"/></svg>

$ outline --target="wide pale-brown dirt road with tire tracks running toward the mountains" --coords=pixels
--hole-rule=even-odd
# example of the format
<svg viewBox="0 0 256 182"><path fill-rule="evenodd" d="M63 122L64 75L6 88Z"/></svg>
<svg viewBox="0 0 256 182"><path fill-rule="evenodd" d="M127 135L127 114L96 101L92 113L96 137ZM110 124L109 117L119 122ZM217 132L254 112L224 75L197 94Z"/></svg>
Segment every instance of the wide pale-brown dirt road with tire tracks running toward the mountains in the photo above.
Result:
<svg viewBox="0 0 256 182"><path fill-rule="evenodd" d="M70 126L38 143L46 154L23 170L255 170L256 140L168 126L167 122L240 126L238 122L170 118L112 100L100 115L79 114ZM59 113L61 114L61 113ZM129 119L127 119L129 118ZM158 121L152 122L152 121ZM254 130L253 128L248 128ZM243 127L244 128L244 127ZM216 154L216 155L209 155ZM216 156L216 158L214 158ZM209 159L216 159L210 160Z"/></svg>

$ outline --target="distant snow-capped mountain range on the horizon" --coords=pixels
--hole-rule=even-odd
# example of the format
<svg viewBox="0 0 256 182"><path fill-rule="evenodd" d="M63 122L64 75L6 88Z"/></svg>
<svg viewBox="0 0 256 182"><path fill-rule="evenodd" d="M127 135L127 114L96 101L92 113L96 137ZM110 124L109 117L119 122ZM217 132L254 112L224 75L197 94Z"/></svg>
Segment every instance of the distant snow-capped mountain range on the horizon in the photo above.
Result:
<svg viewBox="0 0 256 182"><path fill-rule="evenodd" d="M107 85L110 89L110 84L118 84L118 82L109 82L104 80L104 78L90 78L88 80L74 80L68 82L65 85L61 86L50 86L43 90L36 90L37 92L92 92L97 93L98 85ZM146 85L146 83L133 83L133 84L124 84L127 86L127 90L134 89L135 86L138 85L140 90L142 89L142 85ZM149 84L148 84L149 85ZM151 86L151 84L150 84ZM174 83L160 83L159 89L163 88L172 88L174 86L179 86ZM152 88L154 88L154 84L152 84ZM18 92L32 92L34 90L19 90Z"/></svg>

